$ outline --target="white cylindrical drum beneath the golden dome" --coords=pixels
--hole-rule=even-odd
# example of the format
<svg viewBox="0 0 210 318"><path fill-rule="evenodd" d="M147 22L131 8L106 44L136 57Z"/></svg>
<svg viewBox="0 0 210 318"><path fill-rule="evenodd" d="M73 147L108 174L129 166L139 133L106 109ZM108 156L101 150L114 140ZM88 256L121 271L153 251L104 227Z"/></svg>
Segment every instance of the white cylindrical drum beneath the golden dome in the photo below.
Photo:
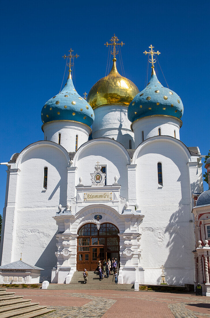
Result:
<svg viewBox="0 0 210 318"><path fill-rule="evenodd" d="M94 110L95 120L92 125L93 138L114 138L125 146L134 149L134 133L128 120L128 107L121 105L108 105Z"/></svg>

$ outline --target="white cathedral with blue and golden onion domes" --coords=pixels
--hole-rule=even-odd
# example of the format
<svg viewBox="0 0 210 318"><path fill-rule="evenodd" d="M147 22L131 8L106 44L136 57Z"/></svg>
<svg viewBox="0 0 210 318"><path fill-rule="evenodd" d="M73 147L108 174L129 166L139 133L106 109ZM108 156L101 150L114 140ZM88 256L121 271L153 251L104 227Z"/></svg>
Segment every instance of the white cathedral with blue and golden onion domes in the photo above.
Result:
<svg viewBox="0 0 210 318"><path fill-rule="evenodd" d="M114 257L119 283L160 284L163 265L168 284L194 284L201 155L180 140L183 104L157 79L150 49L141 92L118 73L114 51L110 73L86 100L70 62L64 88L43 106L43 140L6 163L2 266L22 252L52 283L69 283L75 271Z"/></svg>

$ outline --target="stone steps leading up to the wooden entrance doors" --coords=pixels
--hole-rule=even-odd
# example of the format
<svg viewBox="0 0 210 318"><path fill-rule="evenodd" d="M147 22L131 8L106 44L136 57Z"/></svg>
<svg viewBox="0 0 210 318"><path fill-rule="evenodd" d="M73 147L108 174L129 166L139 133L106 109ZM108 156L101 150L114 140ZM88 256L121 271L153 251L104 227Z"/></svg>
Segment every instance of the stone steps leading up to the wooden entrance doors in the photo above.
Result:
<svg viewBox="0 0 210 318"><path fill-rule="evenodd" d="M75 272L72 276L70 284L49 284L48 289L111 289L111 290L134 290L133 284L117 284L113 280L113 272L109 277L105 277L100 281L99 275L96 272L88 272L87 284L84 284L82 272Z"/></svg>

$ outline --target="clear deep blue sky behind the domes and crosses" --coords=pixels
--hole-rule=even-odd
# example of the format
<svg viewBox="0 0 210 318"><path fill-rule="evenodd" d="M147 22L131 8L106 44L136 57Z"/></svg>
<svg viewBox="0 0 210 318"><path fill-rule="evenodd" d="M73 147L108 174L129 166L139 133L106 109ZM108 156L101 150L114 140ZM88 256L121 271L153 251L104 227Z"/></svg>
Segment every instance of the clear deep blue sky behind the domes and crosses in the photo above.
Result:
<svg viewBox="0 0 210 318"><path fill-rule="evenodd" d="M148 58L143 52L150 44L161 52L158 59L167 84L184 104L180 139L187 146L199 146L206 155L210 148L209 12L207 0L2 1L0 162L43 139L41 109L60 90L62 56L69 48L80 55L74 83L82 95L105 76L108 48L104 43L114 33L125 43L121 48L125 75L140 91L147 74ZM117 67L121 73L119 60ZM157 71L166 86L159 67ZM5 169L0 166L0 213Z"/></svg>

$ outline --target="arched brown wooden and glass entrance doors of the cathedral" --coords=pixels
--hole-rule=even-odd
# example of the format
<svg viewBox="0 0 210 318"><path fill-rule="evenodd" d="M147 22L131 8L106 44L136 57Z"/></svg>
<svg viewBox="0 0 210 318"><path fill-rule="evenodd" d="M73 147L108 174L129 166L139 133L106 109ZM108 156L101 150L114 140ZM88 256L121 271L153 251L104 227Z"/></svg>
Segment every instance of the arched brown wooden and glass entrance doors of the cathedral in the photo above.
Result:
<svg viewBox="0 0 210 318"><path fill-rule="evenodd" d="M113 257L119 262L119 232L111 223L101 224L99 230L94 223L82 225L77 238L77 270L94 271L99 260Z"/></svg>

